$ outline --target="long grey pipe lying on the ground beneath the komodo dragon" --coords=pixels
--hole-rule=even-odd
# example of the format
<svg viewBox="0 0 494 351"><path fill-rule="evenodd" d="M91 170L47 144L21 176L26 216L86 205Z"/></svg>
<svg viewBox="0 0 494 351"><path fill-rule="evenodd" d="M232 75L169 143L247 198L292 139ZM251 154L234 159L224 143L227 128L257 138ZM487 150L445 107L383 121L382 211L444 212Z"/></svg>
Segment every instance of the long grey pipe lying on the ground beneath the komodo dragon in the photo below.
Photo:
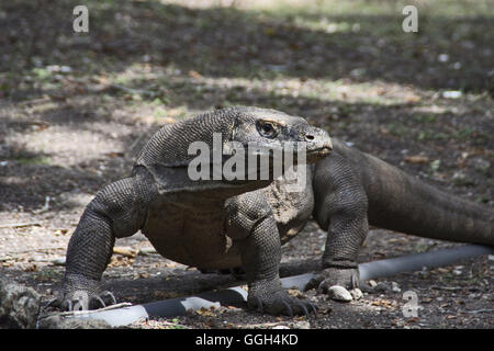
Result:
<svg viewBox="0 0 494 351"><path fill-rule="evenodd" d="M437 268L457 261L474 258L482 254L494 253L493 247L465 245L452 249L441 249L425 253L409 254L393 259L373 261L359 264L360 280L367 281L375 278L390 276L403 272L422 270L424 267ZM314 278L313 273L305 273L283 278L283 287L305 290L305 285ZM177 297L143 305L125 306L120 308L105 308L102 310L77 312L69 318L103 319L112 327L126 326L139 318L173 317L184 315L189 309L211 308L228 305L245 304L247 292L239 287L229 287L222 291L206 292L197 296Z"/></svg>

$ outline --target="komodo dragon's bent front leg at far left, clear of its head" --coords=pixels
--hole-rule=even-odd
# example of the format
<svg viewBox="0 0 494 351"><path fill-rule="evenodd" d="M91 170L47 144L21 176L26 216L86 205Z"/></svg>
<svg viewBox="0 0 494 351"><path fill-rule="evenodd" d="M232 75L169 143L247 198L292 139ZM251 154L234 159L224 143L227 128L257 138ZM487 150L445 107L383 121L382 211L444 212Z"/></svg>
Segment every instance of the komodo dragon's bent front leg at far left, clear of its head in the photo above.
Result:
<svg viewBox="0 0 494 351"><path fill-rule="evenodd" d="M101 275L112 256L115 238L131 236L144 225L147 205L156 195L154 180L144 169L98 192L68 245L58 298L64 309L93 309L115 303L111 293L101 290Z"/></svg>

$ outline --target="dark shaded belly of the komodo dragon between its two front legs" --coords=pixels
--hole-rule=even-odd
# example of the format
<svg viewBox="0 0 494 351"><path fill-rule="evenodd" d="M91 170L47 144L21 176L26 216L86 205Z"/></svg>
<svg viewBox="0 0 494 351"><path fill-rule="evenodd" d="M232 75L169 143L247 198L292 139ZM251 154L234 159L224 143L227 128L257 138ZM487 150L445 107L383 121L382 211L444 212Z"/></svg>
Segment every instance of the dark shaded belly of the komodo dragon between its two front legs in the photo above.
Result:
<svg viewBox="0 0 494 351"><path fill-rule="evenodd" d="M165 258L201 269L240 265L226 236L224 211L197 211L160 202L150 208L143 234Z"/></svg>

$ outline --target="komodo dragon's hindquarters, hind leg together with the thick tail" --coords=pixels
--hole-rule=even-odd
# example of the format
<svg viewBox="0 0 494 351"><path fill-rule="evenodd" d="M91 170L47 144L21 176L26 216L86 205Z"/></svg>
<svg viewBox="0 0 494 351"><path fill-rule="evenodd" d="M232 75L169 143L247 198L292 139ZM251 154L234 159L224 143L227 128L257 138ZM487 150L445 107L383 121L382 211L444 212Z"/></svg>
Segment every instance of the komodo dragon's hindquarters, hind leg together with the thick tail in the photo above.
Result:
<svg viewBox="0 0 494 351"><path fill-rule="evenodd" d="M308 287L356 287L368 224L433 239L494 245L494 212L447 194L333 139L314 171L314 218L327 230L318 278Z"/></svg>

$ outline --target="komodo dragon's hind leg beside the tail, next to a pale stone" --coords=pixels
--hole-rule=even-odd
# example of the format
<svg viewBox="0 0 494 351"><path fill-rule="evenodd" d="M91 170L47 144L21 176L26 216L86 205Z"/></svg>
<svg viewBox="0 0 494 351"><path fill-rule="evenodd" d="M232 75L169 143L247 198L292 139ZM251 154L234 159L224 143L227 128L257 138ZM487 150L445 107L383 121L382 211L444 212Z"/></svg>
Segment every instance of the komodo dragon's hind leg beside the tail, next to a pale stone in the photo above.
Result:
<svg viewBox="0 0 494 351"><path fill-rule="evenodd" d="M323 272L307 288L359 285L357 258L369 231L368 199L351 165L340 155L318 165L314 178L315 217L327 229Z"/></svg>

